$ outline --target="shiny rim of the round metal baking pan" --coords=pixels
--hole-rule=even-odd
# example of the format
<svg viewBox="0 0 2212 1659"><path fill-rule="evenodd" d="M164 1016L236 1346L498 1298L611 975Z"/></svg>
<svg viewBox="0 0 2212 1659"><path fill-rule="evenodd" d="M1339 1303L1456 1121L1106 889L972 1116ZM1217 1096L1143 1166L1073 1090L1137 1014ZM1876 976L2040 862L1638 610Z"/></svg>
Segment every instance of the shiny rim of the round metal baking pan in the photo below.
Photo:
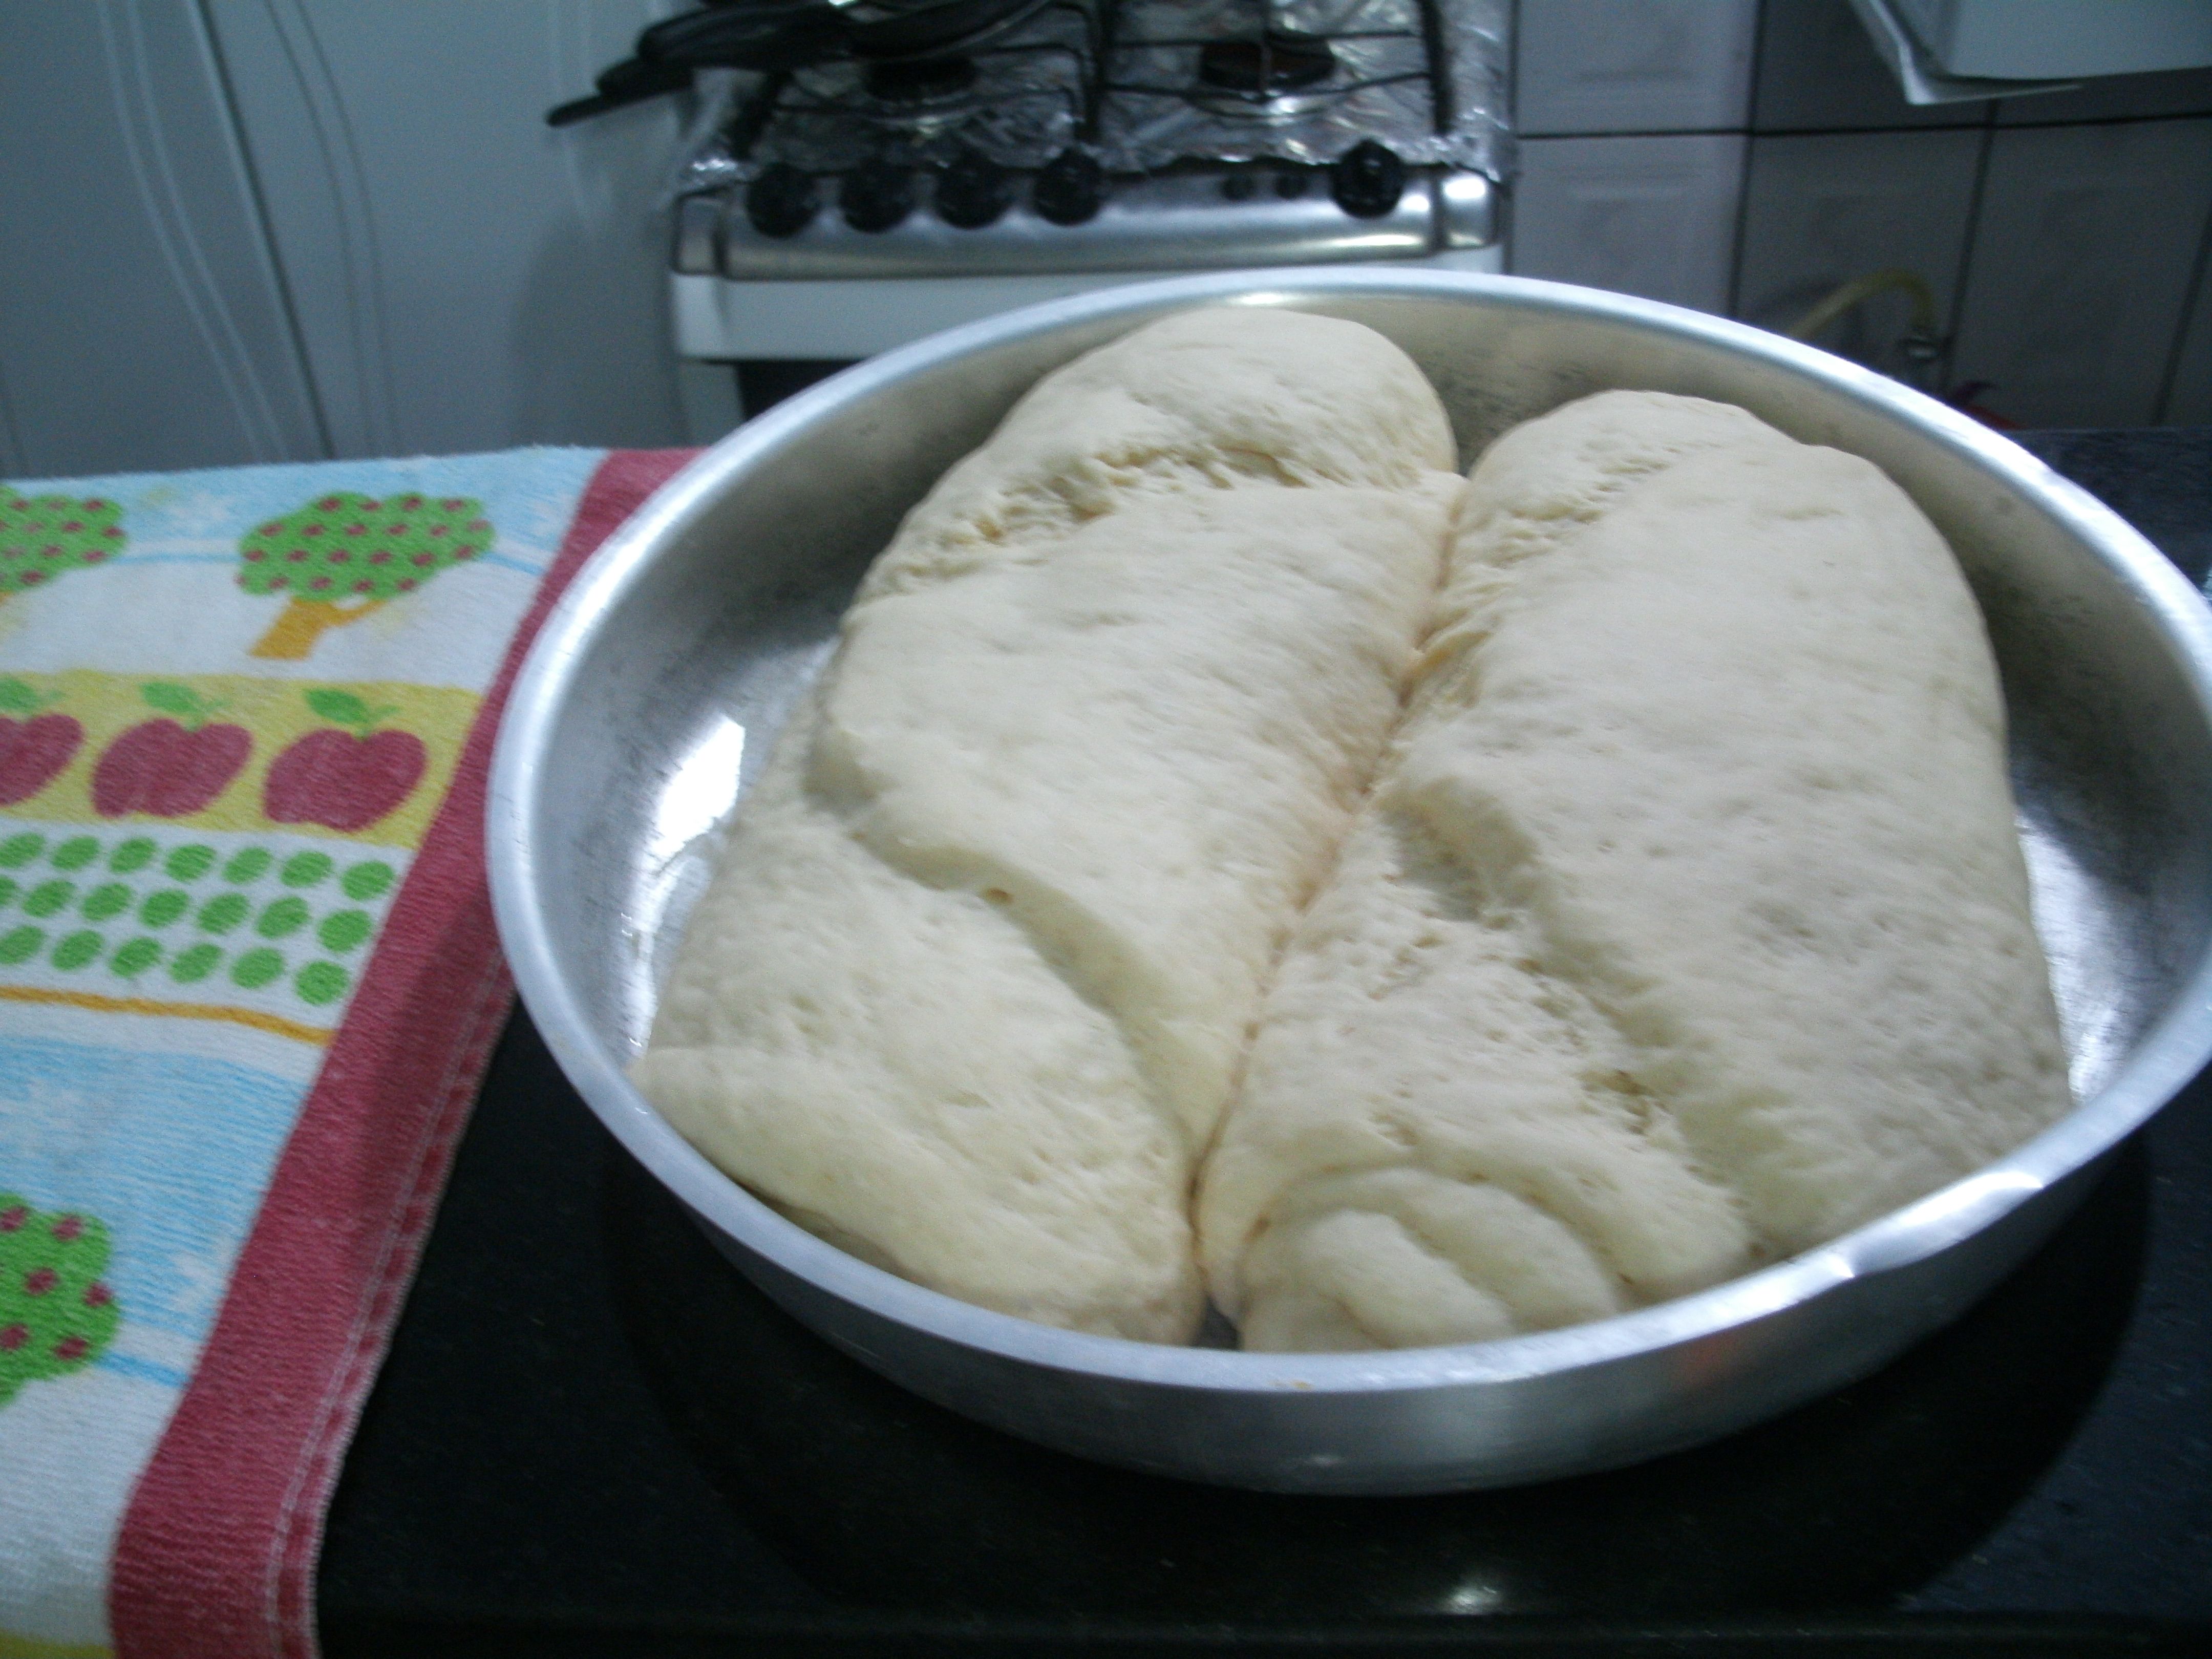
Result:
<svg viewBox="0 0 2212 1659"><path fill-rule="evenodd" d="M973 323L847 369L748 422L670 480L575 580L546 622L513 686L493 761L489 863L500 933L522 995L555 1060L615 1137L712 1230L836 1298L947 1343L1053 1371L1124 1378L1170 1389L1402 1391L1458 1383L1502 1383L1668 1349L1765 1314L1809 1303L1843 1285L1924 1261L1989 1228L2017 1206L2095 1164L2141 1126L2212 1055L2212 962L2201 964L2121 1071L2044 1135L1997 1164L1918 1203L1792 1261L1714 1290L1615 1318L1537 1336L1385 1354L1239 1354L1161 1347L1064 1332L995 1314L860 1263L779 1217L670 1130L628 1084L593 1026L557 958L535 902L538 847L531 807L571 670L595 622L622 602L655 549L823 411L925 374L980 345L1053 334L1073 323L1152 316L1206 303L1298 305L1334 296L1478 299L1491 307L1601 316L1635 330L1703 338L1763 358L1840 392L1874 411L2008 480L2057 518L2157 615L2177 668L2212 723L2212 613L2197 591L2117 513L2066 482L2017 445L1966 416L1869 369L1805 345L1697 312L1593 290L1460 272L1316 270L1210 274L1035 305Z"/></svg>

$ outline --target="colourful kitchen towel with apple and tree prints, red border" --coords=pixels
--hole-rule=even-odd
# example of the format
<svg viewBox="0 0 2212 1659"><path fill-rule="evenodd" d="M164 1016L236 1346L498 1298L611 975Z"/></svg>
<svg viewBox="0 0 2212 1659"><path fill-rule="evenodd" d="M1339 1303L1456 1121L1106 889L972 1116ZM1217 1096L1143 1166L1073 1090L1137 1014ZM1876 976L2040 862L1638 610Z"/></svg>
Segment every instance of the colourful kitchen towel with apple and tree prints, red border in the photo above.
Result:
<svg viewBox="0 0 2212 1659"><path fill-rule="evenodd" d="M688 453L0 484L0 1659L314 1652L511 1002L500 706Z"/></svg>

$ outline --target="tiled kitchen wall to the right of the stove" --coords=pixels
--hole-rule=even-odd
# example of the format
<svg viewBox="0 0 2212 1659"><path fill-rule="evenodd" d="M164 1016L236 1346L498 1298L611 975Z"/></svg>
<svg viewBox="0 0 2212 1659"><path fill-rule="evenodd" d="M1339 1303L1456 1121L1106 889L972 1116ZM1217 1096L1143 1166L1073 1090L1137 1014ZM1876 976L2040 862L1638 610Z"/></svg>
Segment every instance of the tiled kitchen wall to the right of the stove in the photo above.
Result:
<svg viewBox="0 0 2212 1659"><path fill-rule="evenodd" d="M1511 270L1778 330L1911 270L1984 407L2212 420L2212 71L1911 106L1849 0L1520 0L1517 27ZM1907 316L1887 294L1820 345L1900 372Z"/></svg>

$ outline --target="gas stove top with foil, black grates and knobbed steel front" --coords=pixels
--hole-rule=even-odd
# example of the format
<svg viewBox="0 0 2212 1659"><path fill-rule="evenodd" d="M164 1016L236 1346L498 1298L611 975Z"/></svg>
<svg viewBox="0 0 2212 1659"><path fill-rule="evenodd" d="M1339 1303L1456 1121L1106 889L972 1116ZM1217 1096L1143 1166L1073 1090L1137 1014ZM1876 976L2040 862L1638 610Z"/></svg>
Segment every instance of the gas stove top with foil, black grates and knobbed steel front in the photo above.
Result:
<svg viewBox="0 0 2212 1659"><path fill-rule="evenodd" d="M1498 239L1509 0L1000 13L956 51L832 46L721 75L681 168L675 270L1086 276Z"/></svg>

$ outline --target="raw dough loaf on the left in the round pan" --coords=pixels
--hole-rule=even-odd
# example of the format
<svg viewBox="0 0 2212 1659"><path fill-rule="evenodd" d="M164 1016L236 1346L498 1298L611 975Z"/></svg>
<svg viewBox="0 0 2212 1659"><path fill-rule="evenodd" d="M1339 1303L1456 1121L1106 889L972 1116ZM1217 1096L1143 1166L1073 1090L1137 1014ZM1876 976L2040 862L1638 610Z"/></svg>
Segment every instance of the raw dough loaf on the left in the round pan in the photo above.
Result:
<svg viewBox="0 0 2212 1659"><path fill-rule="evenodd" d="M1190 1340L1190 1188L1400 712L1464 480L1352 323L1170 319L914 509L745 799L635 1077L925 1285Z"/></svg>

